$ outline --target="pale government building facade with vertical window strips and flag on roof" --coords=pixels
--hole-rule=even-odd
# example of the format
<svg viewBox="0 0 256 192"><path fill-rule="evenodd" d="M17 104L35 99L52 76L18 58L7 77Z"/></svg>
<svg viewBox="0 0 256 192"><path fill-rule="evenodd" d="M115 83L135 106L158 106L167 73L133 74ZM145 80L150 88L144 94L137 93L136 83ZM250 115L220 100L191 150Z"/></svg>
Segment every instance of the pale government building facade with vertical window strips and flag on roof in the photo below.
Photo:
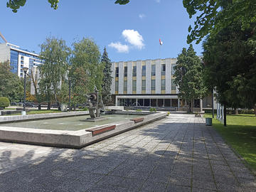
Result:
<svg viewBox="0 0 256 192"><path fill-rule="evenodd" d="M112 63L115 105L180 107L174 84L176 58Z"/></svg>

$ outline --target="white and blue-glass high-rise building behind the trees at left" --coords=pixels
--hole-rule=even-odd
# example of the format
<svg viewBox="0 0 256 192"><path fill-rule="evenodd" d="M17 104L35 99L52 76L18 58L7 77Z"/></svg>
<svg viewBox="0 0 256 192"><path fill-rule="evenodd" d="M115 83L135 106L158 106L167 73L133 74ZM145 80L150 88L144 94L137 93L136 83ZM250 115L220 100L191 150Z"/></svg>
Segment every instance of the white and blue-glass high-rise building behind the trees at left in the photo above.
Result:
<svg viewBox="0 0 256 192"><path fill-rule="evenodd" d="M33 68L42 64L38 54L14 46L11 43L0 43L0 62L7 60L10 62L11 72L20 78L24 77L22 68L28 68L28 73L30 73L31 70L35 70Z"/></svg>

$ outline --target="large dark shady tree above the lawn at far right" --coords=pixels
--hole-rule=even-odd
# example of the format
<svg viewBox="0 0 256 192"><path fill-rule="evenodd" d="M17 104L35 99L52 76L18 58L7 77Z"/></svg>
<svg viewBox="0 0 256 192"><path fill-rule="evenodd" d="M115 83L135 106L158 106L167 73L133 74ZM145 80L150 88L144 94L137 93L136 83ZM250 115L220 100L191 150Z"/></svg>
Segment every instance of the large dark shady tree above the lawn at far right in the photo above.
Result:
<svg viewBox="0 0 256 192"><path fill-rule="evenodd" d="M255 108L256 114L256 23L243 29L232 23L203 43L205 81L218 92L226 107Z"/></svg>

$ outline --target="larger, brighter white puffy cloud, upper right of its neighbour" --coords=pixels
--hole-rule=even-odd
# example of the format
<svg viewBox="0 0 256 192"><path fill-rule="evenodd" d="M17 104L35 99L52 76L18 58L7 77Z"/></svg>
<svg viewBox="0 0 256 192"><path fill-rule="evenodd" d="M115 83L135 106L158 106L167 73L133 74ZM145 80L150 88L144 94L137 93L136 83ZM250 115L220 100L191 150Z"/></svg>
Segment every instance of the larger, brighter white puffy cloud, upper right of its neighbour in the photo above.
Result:
<svg viewBox="0 0 256 192"><path fill-rule="evenodd" d="M122 31L122 36L124 37L125 41L132 44L138 49L144 48L143 37L139 34L138 31L134 31L133 29L125 29Z"/></svg>

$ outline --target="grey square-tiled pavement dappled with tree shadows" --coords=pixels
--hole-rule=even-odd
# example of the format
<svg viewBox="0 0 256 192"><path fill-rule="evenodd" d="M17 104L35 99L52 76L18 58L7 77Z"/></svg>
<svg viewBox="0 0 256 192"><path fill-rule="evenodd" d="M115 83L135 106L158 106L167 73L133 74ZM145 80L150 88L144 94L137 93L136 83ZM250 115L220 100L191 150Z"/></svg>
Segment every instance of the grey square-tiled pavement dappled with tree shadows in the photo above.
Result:
<svg viewBox="0 0 256 192"><path fill-rule="evenodd" d="M0 191L256 191L204 119L171 114L80 150L0 142Z"/></svg>

